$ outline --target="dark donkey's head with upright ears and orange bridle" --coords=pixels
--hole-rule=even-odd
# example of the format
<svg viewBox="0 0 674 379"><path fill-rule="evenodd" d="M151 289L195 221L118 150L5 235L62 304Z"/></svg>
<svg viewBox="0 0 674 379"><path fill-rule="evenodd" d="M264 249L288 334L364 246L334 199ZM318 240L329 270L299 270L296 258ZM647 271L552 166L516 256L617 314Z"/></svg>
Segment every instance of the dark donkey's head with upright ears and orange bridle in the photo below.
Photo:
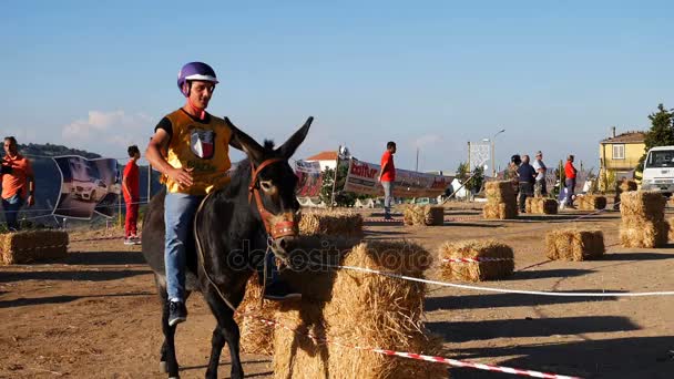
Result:
<svg viewBox="0 0 674 379"><path fill-rule="evenodd" d="M228 119L225 122L233 131L233 140L238 142L248 156L252 168L248 186L248 203L257 211L270 237L272 250L277 258L287 263L287 252L298 234L299 203L295 194L297 176L288 164L288 158L306 137L314 117L308 117L298 131L279 147L272 142L261 146L246 133L238 130Z"/></svg>

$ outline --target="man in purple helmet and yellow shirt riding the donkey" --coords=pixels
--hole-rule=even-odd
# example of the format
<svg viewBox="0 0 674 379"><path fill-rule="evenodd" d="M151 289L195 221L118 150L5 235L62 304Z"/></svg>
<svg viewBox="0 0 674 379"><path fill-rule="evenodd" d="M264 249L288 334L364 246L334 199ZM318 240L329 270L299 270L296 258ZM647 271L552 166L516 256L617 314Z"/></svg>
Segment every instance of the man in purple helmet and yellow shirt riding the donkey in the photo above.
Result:
<svg viewBox="0 0 674 379"><path fill-rule="evenodd" d="M185 104L160 121L145 152L147 161L162 173L166 185L164 262L171 327L187 317L185 270L187 240L195 212L208 193L229 182L228 146L242 150L225 120L206 112L217 83L215 71L208 64L185 64L177 78L177 86L186 98ZM270 277L272 284L265 287L266 298L299 297L275 275Z"/></svg>

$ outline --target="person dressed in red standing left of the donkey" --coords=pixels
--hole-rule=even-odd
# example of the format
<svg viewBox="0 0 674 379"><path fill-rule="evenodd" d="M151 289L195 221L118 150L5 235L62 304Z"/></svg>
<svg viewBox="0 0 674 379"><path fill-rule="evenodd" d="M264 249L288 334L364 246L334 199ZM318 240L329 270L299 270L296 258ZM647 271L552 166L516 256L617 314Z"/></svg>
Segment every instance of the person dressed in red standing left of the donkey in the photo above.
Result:
<svg viewBox="0 0 674 379"><path fill-rule="evenodd" d="M140 243L136 229L140 202L140 173L137 160L141 157L139 146L129 146L129 163L124 166L122 178L122 192L126 203L126 223L124 224L124 245L137 245Z"/></svg>

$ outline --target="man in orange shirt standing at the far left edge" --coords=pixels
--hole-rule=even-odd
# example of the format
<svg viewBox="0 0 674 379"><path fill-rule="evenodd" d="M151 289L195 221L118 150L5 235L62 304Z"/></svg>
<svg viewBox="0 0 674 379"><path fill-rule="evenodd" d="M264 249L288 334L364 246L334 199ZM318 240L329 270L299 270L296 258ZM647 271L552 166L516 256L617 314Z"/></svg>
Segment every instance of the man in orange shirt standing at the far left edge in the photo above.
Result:
<svg viewBox="0 0 674 379"><path fill-rule="evenodd" d="M32 206L35 201L35 178L30 162L21 154L13 136L4 137L2 158L2 208L4 221L10 231L19 231L19 209L24 203Z"/></svg>

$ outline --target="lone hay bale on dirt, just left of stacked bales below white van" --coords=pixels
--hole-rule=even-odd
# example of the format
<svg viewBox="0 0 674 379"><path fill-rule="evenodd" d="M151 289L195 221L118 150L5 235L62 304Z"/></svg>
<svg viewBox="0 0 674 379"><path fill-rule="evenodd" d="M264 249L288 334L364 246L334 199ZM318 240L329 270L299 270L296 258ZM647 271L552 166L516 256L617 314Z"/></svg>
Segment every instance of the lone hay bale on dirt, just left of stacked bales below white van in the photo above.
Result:
<svg viewBox="0 0 674 379"><path fill-rule="evenodd" d="M601 231L560 229L545 235L548 258L552 260L589 260L605 253Z"/></svg>

